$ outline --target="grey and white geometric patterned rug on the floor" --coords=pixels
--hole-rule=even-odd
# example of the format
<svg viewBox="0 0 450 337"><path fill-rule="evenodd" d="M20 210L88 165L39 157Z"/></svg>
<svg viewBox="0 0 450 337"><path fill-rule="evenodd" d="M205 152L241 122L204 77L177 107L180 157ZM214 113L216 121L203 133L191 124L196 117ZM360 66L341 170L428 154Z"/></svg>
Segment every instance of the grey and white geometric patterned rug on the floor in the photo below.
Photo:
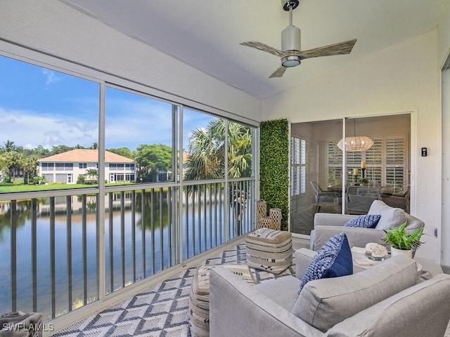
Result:
<svg viewBox="0 0 450 337"><path fill-rule="evenodd" d="M246 263L245 243L209 258L205 265ZM83 319L54 337L131 337L165 336L190 337L188 323L189 291L196 267L182 272L178 277L166 279L130 298L122 300L98 314ZM286 275L295 275L295 262L279 275L262 270L251 271L257 282Z"/></svg>

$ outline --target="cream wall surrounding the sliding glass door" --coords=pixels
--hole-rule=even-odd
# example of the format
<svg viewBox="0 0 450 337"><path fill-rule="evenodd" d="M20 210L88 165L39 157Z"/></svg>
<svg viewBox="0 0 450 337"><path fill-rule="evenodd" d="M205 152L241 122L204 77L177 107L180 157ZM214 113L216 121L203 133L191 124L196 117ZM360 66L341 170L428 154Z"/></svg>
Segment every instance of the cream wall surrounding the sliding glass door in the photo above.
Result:
<svg viewBox="0 0 450 337"><path fill-rule="evenodd" d="M300 67L307 62L314 60ZM435 260L440 258L440 237L434 230L440 232L441 223L439 73L434 30L268 98L262 106L262 119L291 122L413 112L411 213L425 222L428 234L417 255ZM300 69L297 76L301 74ZM420 147L428 147L428 157L420 157Z"/></svg>

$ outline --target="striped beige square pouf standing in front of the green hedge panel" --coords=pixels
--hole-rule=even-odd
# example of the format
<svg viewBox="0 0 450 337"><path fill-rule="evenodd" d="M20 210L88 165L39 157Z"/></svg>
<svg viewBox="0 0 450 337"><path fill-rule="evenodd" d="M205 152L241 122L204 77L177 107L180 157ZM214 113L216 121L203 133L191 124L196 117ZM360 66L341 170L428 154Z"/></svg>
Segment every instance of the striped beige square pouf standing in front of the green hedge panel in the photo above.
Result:
<svg viewBox="0 0 450 337"><path fill-rule="evenodd" d="M247 264L255 269L280 274L293 264L290 232L259 228L245 237Z"/></svg>

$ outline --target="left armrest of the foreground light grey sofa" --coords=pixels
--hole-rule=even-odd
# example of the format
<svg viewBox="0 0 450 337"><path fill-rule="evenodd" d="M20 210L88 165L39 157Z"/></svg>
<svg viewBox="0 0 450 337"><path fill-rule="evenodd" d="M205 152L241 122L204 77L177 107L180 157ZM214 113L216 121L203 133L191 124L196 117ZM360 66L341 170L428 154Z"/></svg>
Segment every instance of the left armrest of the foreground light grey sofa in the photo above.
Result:
<svg viewBox="0 0 450 337"><path fill-rule="evenodd" d="M295 296L297 294L294 294ZM222 267L210 271L210 336L323 336Z"/></svg>

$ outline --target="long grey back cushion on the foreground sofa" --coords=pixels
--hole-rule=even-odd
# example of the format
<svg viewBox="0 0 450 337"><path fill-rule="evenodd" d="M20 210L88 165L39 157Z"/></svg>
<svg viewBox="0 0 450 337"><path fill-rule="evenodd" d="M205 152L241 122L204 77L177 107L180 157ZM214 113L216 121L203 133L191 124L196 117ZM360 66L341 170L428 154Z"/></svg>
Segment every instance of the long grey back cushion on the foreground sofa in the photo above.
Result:
<svg viewBox="0 0 450 337"><path fill-rule="evenodd" d="M292 312L325 332L357 312L413 286L416 279L416 261L395 256L353 275L308 282Z"/></svg>

